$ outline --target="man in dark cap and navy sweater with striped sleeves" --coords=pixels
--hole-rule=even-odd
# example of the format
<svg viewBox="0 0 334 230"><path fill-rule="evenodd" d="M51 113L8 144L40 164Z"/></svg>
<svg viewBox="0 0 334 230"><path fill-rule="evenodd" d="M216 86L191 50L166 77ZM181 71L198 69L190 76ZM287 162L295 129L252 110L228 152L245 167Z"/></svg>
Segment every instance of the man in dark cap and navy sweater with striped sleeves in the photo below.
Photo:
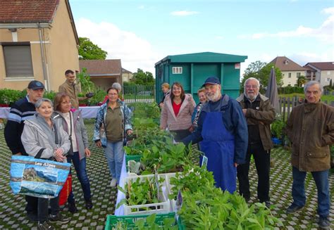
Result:
<svg viewBox="0 0 334 230"><path fill-rule="evenodd" d="M5 127L5 139L8 148L13 155L27 155L21 142L21 135L24 121L34 117L36 113L35 103L42 98L44 94L44 84L39 81L31 81L27 87L27 96L16 101L8 115L8 121ZM37 201L33 196L25 196L27 200L27 218L31 221L37 221Z"/></svg>

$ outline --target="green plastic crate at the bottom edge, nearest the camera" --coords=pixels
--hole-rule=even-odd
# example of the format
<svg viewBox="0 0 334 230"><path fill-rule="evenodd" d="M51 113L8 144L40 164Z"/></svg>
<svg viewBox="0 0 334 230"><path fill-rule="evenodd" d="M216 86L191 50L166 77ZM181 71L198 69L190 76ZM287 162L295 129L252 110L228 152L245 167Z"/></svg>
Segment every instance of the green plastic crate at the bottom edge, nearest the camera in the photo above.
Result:
<svg viewBox="0 0 334 230"><path fill-rule="evenodd" d="M106 226L104 230L111 230L116 226L118 222L124 222L128 225L127 229L137 229L135 226L135 222L138 219L147 218L149 215L132 215L132 216L114 216L107 215L106 217ZM169 212L166 214L157 214L155 223L159 224L159 226L163 226L163 219L165 218L175 218L175 212ZM178 222L175 219L175 225L178 225ZM174 225L174 226L175 226Z"/></svg>

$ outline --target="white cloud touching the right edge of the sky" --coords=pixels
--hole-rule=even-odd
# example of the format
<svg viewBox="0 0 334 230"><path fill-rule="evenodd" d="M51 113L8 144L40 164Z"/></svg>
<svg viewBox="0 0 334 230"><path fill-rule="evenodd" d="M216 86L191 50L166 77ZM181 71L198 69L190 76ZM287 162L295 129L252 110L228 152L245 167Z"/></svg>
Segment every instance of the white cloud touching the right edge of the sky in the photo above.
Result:
<svg viewBox="0 0 334 230"><path fill-rule="evenodd" d="M324 43L333 43L333 27L334 27L334 7L325 8L321 13L329 14L329 17L318 28L305 27L299 25L295 30L269 33L259 32L251 35L241 34L237 36L239 39L264 39L264 38L290 38L290 37L313 37Z"/></svg>

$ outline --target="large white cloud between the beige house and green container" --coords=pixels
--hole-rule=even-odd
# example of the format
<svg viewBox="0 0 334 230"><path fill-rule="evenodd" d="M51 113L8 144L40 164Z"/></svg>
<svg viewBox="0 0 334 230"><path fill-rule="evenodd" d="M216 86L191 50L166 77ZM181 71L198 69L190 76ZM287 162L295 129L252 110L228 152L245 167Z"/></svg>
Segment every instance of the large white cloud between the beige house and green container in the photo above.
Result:
<svg viewBox="0 0 334 230"><path fill-rule="evenodd" d="M154 63L161 54L156 53L149 41L133 32L120 30L112 23L94 23L86 18L75 22L79 37L88 37L94 44L108 52L107 59L121 59L122 67L136 72L137 68L154 74Z"/></svg>

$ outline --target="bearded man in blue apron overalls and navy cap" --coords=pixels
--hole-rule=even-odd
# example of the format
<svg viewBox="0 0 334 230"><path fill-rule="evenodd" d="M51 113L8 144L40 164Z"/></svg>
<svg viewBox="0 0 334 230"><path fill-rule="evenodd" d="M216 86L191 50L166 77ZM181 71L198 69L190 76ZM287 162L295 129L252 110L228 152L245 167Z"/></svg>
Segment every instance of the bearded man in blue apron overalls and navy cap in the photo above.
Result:
<svg viewBox="0 0 334 230"><path fill-rule="evenodd" d="M237 185L237 165L245 162L247 152L247 122L239 103L221 94L217 77L208 77L203 87L209 102L202 108L197 129L183 139L183 143L202 141L201 151L208 158L207 170L214 173L216 187L233 193Z"/></svg>

